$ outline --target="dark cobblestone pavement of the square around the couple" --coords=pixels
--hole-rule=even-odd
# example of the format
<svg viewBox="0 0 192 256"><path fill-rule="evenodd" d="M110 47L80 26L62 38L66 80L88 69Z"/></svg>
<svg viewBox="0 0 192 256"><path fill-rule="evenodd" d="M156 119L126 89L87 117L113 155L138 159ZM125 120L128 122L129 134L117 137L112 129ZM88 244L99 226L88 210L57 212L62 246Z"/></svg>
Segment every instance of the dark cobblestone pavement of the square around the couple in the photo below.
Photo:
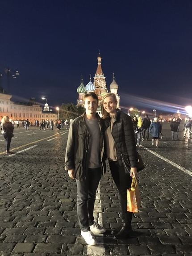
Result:
<svg viewBox="0 0 192 256"><path fill-rule="evenodd" d="M110 235L121 218L108 168L94 213L107 232L88 246L80 235L76 183L63 169L67 135L65 129L15 128L14 155L4 154L0 138L0 255L192 256L192 139L179 132L180 141L172 141L164 122L159 147L149 140L138 148L146 168L138 175L142 207L134 214L129 239Z"/></svg>

